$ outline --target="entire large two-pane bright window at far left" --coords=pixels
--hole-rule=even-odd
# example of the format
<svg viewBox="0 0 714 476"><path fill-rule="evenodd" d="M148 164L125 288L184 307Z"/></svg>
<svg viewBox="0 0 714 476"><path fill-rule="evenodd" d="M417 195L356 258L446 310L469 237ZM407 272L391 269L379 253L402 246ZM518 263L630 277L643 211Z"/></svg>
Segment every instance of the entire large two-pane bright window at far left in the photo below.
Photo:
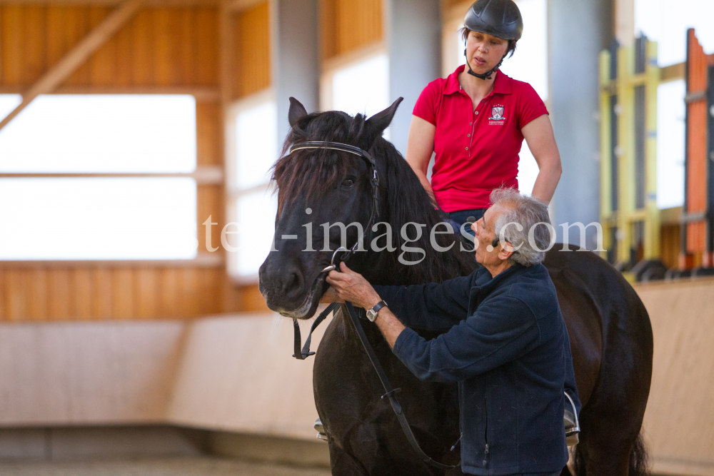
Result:
<svg viewBox="0 0 714 476"><path fill-rule="evenodd" d="M193 96L39 96L0 131L0 260L194 258L195 169Z"/></svg>

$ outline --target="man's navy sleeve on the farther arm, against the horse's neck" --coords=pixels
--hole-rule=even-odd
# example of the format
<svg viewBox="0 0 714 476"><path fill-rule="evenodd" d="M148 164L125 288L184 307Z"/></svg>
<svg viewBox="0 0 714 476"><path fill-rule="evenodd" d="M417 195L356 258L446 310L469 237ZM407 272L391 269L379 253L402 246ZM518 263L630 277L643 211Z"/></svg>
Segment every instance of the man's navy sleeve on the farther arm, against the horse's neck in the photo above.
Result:
<svg viewBox="0 0 714 476"><path fill-rule="evenodd" d="M473 274L412 286L374 286L389 309L410 328L448 330L466 319Z"/></svg>

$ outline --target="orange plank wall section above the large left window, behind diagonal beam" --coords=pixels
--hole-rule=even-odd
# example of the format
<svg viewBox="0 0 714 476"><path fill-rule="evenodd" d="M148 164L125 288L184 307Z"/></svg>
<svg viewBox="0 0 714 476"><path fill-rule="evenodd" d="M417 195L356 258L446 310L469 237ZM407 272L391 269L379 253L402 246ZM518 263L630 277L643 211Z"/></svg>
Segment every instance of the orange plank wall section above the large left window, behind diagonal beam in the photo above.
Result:
<svg viewBox="0 0 714 476"><path fill-rule="evenodd" d="M0 5L0 83L30 86L111 11ZM218 9L139 11L65 82L72 86L217 86Z"/></svg>

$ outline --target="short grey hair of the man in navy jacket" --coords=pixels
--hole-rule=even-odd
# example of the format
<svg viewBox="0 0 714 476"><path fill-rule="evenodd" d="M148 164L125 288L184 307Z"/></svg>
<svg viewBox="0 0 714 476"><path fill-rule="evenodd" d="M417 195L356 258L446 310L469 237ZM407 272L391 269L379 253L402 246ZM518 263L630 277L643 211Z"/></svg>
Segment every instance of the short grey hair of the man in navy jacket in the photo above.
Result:
<svg viewBox="0 0 714 476"><path fill-rule="evenodd" d="M515 188L496 188L490 198L494 206L505 210L493 228L497 240L506 240L516 248L509 263L532 266L543 261L555 238L548 206L538 198L521 195Z"/></svg>

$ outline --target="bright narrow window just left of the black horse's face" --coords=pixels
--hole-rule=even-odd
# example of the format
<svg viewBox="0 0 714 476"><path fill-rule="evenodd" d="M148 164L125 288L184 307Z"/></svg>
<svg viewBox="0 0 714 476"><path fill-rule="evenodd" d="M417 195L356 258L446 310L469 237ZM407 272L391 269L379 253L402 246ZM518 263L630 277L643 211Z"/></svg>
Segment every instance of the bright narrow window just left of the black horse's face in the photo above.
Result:
<svg viewBox="0 0 714 476"><path fill-rule="evenodd" d="M230 112L233 225L226 228L228 270L238 280L257 278L273 243L277 196L270 169L278 158L277 108L270 91L238 101Z"/></svg>

